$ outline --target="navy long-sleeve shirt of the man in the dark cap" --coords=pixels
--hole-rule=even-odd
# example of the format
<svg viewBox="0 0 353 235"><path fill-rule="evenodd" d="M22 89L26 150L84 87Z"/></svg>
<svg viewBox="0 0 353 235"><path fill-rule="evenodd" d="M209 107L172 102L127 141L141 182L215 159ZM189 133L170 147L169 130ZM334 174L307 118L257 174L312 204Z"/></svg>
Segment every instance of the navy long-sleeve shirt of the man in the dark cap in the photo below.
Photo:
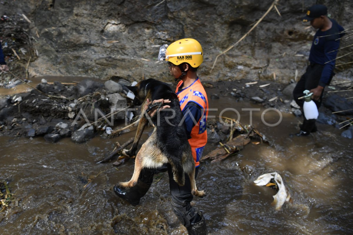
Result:
<svg viewBox="0 0 353 235"><path fill-rule="evenodd" d="M330 19L332 27L329 30L318 30L312 41L309 61L310 63L322 64L322 70L319 86L325 87L333 73L336 63L337 49L340 47L340 38L344 35L344 29L335 20ZM327 36L330 35L330 36ZM325 37L321 37L325 36Z"/></svg>

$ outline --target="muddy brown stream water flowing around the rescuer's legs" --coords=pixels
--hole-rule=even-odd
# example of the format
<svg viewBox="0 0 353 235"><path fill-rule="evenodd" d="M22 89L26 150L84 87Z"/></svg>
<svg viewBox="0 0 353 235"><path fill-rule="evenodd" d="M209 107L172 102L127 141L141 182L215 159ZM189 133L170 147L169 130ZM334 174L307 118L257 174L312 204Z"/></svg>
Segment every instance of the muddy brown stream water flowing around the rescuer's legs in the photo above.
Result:
<svg viewBox="0 0 353 235"><path fill-rule="evenodd" d="M208 196L195 197L193 203L204 212L209 234L353 234L352 140L323 124L311 136L290 137L299 121L292 114L282 113L282 122L269 127L261 121L261 106L237 103L232 97L209 102L210 108L219 109L210 115L231 107L239 111L243 124L249 124L250 115L242 108L261 109L253 112L252 123L270 142L250 143L219 163L201 163L197 185ZM237 117L232 111L223 116ZM264 118L276 123L279 115L268 112ZM156 175L134 207L112 191L113 185L130 179L134 162L119 167L95 163L116 142L133 135L96 137L84 144L69 138L53 144L40 137L0 137L0 179L10 182L16 197L0 213L1 234L186 235L170 206L168 174ZM213 148L209 144L205 154ZM271 172L282 176L293 198L279 211L271 205L275 191L253 184Z"/></svg>

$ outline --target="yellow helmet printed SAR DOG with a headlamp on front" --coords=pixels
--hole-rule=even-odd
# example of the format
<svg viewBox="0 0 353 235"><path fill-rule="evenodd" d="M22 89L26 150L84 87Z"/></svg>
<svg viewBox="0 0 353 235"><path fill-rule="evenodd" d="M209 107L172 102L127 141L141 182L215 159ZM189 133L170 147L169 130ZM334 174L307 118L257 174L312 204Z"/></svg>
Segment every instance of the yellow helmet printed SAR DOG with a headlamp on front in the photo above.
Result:
<svg viewBox="0 0 353 235"><path fill-rule="evenodd" d="M158 60L171 62L175 65L189 63L191 67L197 68L203 61L201 44L192 38L184 38L173 42L167 47L162 45Z"/></svg>

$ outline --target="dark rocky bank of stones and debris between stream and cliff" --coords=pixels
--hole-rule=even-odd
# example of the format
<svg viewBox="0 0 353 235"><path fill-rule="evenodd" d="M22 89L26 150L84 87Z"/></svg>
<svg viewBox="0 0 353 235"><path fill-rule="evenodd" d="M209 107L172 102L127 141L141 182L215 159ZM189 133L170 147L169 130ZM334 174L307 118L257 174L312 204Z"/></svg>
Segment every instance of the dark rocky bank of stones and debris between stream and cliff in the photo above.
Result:
<svg viewBox="0 0 353 235"><path fill-rule="evenodd" d="M103 83L86 79L77 84L59 81L49 84L42 80L36 89L30 92L0 98L0 135L28 138L44 136L51 142L71 137L76 143L83 143L97 135L109 137L114 126L108 122L131 123L140 115L140 107L132 105L133 94L129 93L125 85L133 85L133 82L119 79ZM302 116L299 107L292 100L294 82L281 84L250 80L205 81L204 86L209 99L232 97L235 106L238 102L257 103L265 108L275 108L283 113ZM349 93L340 92L343 95L339 96L332 92L343 89L345 87L340 84L326 88L327 93L319 110L319 123L334 125L337 128L349 123L340 124L353 115L353 110L350 110L353 109L353 104L349 99L345 99ZM108 116L108 122L101 118L103 115L109 115L112 110L127 107L130 109L115 113L113 119ZM332 114L344 110L349 111ZM96 120L98 122L94 123ZM88 123L93 125L88 126ZM349 126L342 128L342 136L352 138L353 129L349 129ZM228 138L230 130L215 120L210 120L208 132L209 141L218 143Z"/></svg>

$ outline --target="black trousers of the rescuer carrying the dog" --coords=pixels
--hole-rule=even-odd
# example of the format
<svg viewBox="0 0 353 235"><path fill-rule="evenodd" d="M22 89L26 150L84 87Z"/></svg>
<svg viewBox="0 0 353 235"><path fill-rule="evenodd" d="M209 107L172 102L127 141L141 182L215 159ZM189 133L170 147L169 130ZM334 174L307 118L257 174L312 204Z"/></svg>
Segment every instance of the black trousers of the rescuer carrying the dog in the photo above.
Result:
<svg viewBox="0 0 353 235"><path fill-rule="evenodd" d="M191 184L189 175L185 174L184 186L178 185L173 179L172 167L170 164L165 164L158 169L144 168L139 176L139 180L151 185L153 182L153 175L168 171L169 175L169 189L172 194L172 208L174 214L177 215L179 221L186 227L190 227L191 223L197 223L201 217L197 211L190 205L193 199L191 194ZM197 177L198 167L195 168L195 179Z"/></svg>

